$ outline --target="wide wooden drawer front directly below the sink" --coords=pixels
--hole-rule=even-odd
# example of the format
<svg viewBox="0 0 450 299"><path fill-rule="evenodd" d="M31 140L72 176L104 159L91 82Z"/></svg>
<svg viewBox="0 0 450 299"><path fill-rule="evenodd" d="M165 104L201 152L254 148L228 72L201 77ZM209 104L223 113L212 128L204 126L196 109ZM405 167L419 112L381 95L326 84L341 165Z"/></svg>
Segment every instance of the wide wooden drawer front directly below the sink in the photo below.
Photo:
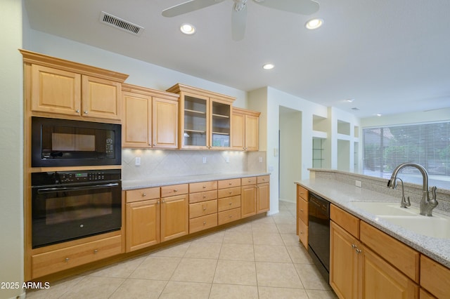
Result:
<svg viewBox="0 0 450 299"><path fill-rule="evenodd" d="M385 232L361 221L360 240L372 251L397 267L407 277L419 282L420 254Z"/></svg>

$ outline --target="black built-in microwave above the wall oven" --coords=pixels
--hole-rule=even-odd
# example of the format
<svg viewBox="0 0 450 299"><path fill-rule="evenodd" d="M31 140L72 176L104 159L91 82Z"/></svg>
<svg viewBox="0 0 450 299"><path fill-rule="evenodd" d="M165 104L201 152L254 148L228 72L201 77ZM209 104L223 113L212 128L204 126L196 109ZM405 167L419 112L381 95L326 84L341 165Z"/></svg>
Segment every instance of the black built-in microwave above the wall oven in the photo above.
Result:
<svg viewBox="0 0 450 299"><path fill-rule="evenodd" d="M122 164L122 127L32 117L32 167Z"/></svg>

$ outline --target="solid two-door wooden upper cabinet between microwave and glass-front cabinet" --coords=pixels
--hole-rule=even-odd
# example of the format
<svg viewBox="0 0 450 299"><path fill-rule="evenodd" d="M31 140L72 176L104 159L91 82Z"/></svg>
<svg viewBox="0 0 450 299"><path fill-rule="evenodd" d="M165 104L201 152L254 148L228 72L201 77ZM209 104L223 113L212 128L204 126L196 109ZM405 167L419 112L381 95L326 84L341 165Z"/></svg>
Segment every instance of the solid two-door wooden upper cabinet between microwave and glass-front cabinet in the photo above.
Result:
<svg viewBox="0 0 450 299"><path fill-rule="evenodd" d="M178 148L179 96L123 84L122 146Z"/></svg>

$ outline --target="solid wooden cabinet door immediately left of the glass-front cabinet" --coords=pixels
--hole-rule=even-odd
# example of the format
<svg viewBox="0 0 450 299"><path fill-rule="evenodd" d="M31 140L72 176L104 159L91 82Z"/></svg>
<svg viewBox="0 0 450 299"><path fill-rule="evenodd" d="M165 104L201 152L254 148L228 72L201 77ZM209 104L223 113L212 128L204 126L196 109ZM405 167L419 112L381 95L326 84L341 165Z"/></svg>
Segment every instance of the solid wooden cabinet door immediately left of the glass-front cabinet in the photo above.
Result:
<svg viewBox="0 0 450 299"><path fill-rule="evenodd" d="M153 98L153 147L178 148L178 102Z"/></svg>

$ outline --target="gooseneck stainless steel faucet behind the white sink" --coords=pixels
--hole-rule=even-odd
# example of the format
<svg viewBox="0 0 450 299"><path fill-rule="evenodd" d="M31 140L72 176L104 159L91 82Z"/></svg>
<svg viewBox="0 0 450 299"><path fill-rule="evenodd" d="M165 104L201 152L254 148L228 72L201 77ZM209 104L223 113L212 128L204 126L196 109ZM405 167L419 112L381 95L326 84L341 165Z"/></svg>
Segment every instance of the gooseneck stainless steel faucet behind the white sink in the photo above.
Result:
<svg viewBox="0 0 450 299"><path fill-rule="evenodd" d="M387 182L387 187L390 187L391 189L397 188L397 175L399 174L399 171L404 167L415 167L417 168L420 173L422 174L423 182L422 182L422 199L420 199L419 209L420 209L420 215L425 216L432 216L432 210L433 208L436 208L437 206L437 200L436 200L436 187L431 188L432 198L430 199L430 192L428 191L428 172L423 166L416 164L416 163L402 163L399 166L397 166L394 171L392 172L391 179ZM403 181L401 181L401 185L403 185ZM404 201L404 194L402 196L402 205Z"/></svg>

